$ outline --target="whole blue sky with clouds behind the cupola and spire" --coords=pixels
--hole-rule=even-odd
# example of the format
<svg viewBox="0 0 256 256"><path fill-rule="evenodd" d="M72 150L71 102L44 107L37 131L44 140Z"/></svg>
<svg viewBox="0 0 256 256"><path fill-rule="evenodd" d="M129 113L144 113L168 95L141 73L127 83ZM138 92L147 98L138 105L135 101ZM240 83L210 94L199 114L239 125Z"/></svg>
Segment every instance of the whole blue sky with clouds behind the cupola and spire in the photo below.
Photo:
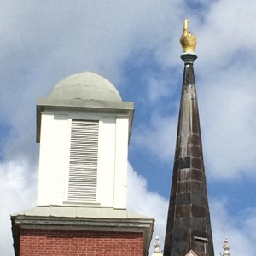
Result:
<svg viewBox="0 0 256 256"><path fill-rule="evenodd" d="M0 254L13 255L9 215L36 205L36 103L89 70L135 102L129 209L156 219L163 243L183 61L183 20L197 37L195 79L215 253L256 250L256 3L1 1Z"/></svg>

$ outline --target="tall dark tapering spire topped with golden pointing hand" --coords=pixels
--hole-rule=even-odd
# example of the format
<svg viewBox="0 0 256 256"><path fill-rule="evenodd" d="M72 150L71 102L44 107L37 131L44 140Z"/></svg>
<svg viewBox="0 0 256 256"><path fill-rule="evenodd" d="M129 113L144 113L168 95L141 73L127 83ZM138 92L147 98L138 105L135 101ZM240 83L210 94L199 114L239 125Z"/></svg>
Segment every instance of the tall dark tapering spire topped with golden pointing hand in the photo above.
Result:
<svg viewBox="0 0 256 256"><path fill-rule="evenodd" d="M180 39L184 61L183 88L177 126L172 190L166 224L164 256L213 256L201 127L195 89L196 38L184 21Z"/></svg>

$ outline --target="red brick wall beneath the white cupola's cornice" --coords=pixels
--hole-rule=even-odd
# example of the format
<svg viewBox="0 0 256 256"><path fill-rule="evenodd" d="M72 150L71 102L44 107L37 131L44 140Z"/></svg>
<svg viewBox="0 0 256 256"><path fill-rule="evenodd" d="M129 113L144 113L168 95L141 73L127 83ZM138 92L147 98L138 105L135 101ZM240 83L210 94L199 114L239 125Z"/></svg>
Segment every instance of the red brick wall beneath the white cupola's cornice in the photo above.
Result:
<svg viewBox="0 0 256 256"><path fill-rule="evenodd" d="M21 230L20 256L143 256L143 233Z"/></svg>

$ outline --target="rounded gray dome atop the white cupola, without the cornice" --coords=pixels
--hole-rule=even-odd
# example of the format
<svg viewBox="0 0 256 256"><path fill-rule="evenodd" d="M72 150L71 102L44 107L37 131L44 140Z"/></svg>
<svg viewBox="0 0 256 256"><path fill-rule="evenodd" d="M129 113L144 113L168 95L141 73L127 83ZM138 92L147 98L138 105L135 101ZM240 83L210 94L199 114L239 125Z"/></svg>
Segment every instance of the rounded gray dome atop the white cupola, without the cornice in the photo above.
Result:
<svg viewBox="0 0 256 256"><path fill-rule="evenodd" d="M60 100L84 99L99 101L122 101L119 91L107 79L96 73L73 74L56 84L49 98Z"/></svg>

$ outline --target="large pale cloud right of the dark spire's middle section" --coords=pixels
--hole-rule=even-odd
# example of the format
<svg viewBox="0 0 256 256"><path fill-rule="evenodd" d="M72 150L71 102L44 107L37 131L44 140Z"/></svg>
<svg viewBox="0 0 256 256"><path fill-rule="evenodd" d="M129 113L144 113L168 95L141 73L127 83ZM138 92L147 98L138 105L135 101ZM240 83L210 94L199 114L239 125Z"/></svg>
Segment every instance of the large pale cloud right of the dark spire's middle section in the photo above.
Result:
<svg viewBox="0 0 256 256"><path fill-rule="evenodd" d="M236 63L215 72L209 79L202 73L198 83L205 164L215 178L254 178L253 67Z"/></svg>

